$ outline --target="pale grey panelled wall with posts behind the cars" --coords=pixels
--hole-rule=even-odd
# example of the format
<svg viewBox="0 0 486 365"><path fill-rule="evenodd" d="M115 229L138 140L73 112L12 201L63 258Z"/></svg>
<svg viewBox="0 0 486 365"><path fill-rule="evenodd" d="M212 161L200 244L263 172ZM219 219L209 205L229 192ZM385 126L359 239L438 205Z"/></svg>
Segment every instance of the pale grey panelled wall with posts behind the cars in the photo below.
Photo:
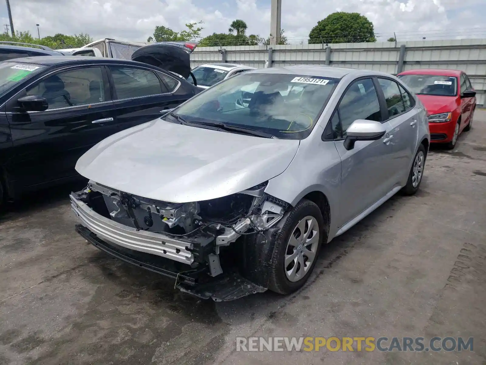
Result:
<svg viewBox="0 0 486 365"><path fill-rule="evenodd" d="M319 64L397 74L420 68L462 70L486 105L486 39L424 40L409 42L288 44L267 46L199 47L191 55L195 67L228 62L262 68Z"/></svg>

